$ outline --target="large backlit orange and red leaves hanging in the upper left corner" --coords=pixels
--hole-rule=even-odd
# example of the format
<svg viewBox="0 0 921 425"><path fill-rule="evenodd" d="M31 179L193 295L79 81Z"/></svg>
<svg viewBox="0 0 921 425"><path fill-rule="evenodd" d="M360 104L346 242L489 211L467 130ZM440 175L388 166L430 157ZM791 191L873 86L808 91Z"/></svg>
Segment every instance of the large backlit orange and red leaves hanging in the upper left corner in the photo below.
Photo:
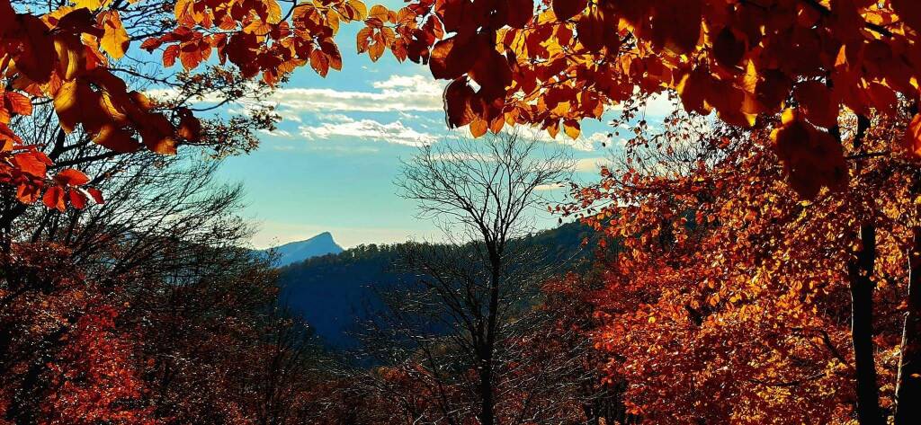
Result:
<svg viewBox="0 0 921 425"><path fill-rule="evenodd" d="M93 3L93 2L90 2ZM79 5L77 5L79 6ZM92 5L90 5L92 6ZM95 8L99 8L99 3ZM197 125L191 116L175 126L156 111L146 96L129 91L108 69L128 46L119 15L111 10L93 14L86 6L62 6L37 17L16 13L8 0L0 2L0 72L6 77L0 113L0 183L17 187L26 203L40 197L49 208L65 204L82 208L98 192L78 190L88 179L76 170L47 175L52 161L35 146L24 144L7 124L10 117L32 113L32 98L50 98L64 132L79 124L94 142L116 152L148 149L175 151L179 135L194 139ZM42 195L42 192L43 195Z"/></svg>

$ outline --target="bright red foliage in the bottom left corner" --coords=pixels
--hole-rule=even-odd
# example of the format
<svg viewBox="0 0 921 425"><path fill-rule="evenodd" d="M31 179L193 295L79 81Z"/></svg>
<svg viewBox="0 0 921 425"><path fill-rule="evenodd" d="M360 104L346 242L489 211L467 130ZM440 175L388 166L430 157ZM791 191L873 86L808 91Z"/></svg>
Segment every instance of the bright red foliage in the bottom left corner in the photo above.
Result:
<svg viewBox="0 0 921 425"><path fill-rule="evenodd" d="M115 326L117 297L87 281L64 247L22 244L8 255L0 423L156 423L151 408L137 405L146 385L132 355L135 336Z"/></svg>

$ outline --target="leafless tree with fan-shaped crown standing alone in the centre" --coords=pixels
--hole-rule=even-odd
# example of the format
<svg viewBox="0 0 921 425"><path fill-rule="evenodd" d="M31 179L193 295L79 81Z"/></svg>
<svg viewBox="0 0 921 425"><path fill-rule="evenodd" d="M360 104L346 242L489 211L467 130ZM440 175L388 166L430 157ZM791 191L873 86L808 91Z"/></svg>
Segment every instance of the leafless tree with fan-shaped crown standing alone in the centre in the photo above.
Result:
<svg viewBox="0 0 921 425"><path fill-rule="evenodd" d="M385 353L389 359L379 360L415 362L421 369L409 373L426 394L437 395L428 411L411 412L415 418L407 421L459 423L469 415L484 425L505 422L496 413L502 402L496 373L504 356L515 353L517 314L558 263L520 236L533 230L540 190L569 178L573 166L561 148L518 133L425 146L404 163L397 181L402 195L417 201L420 217L434 219L449 239L403 246L414 283L384 299L387 323L376 326L376 346L398 342Z"/></svg>

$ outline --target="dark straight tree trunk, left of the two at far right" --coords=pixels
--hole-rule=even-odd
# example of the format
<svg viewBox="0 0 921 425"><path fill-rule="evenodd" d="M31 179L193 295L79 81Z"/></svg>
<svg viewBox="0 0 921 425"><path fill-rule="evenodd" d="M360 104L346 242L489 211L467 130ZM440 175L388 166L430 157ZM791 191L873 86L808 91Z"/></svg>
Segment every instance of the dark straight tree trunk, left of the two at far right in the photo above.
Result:
<svg viewBox="0 0 921 425"><path fill-rule="evenodd" d="M876 227L860 226L861 249L848 264L851 290L851 341L857 371L857 419L861 425L882 425L880 389L873 358L873 266L876 262Z"/></svg>

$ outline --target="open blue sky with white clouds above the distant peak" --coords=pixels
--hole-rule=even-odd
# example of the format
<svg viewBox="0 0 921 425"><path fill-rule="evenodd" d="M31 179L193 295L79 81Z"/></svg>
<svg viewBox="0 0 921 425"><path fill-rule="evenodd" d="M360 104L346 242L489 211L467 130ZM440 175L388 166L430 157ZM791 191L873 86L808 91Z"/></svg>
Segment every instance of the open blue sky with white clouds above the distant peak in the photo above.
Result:
<svg viewBox="0 0 921 425"><path fill-rule="evenodd" d="M402 2L383 4L397 7ZM377 63L367 54L359 56L357 29L340 29L343 70L331 70L325 78L309 67L295 71L267 99L282 117L277 131L260 134L259 149L228 158L219 170L223 179L244 186L241 215L257 229L253 247L322 232L332 233L343 247L437 241L441 236L435 224L416 217L414 202L402 199L393 181L401 158L450 135L441 101L447 82L432 78L426 65L397 62L391 52ZM598 165L622 143L607 136L612 128L605 121L613 113L604 121L583 121L577 141L562 132L548 141L567 146L577 160L580 181L597 179ZM556 219L543 212L535 223L547 228Z"/></svg>

